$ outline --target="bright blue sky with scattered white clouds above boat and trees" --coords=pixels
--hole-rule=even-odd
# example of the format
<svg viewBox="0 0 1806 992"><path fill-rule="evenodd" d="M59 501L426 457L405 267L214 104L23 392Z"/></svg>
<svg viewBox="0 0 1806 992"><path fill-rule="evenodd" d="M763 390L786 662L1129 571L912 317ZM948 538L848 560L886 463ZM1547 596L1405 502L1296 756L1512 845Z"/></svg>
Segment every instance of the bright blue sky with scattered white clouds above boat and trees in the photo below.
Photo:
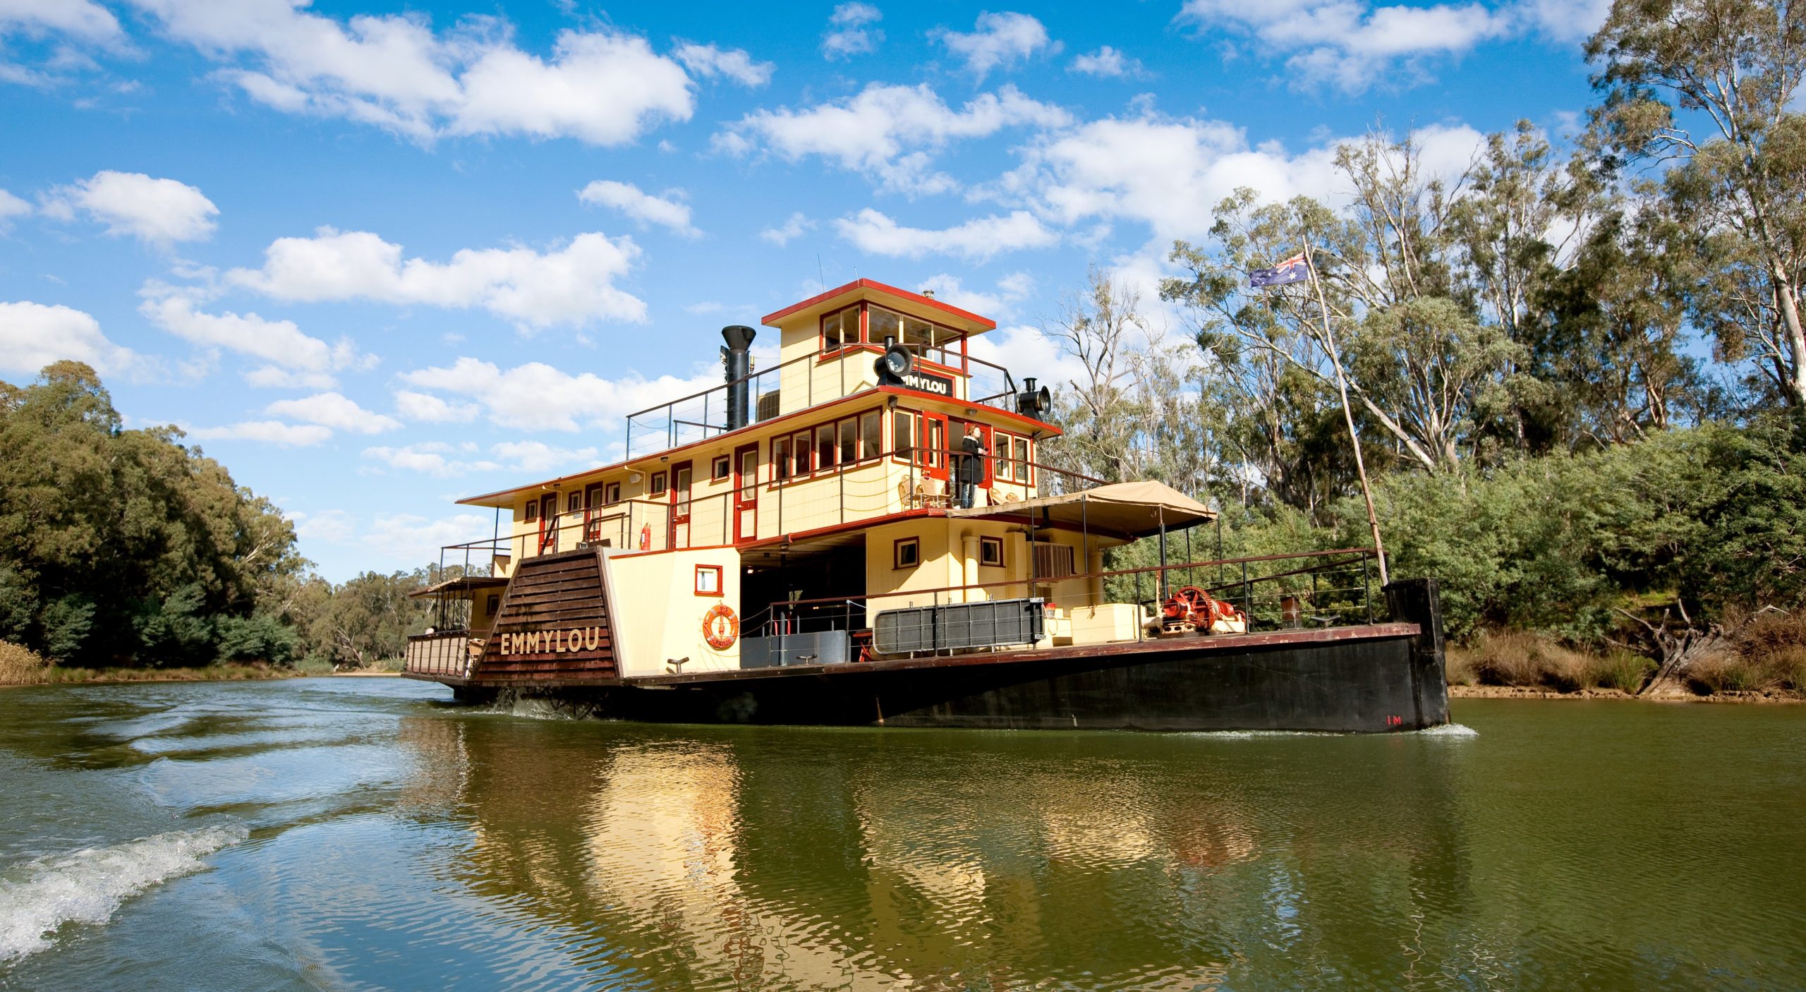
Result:
<svg viewBox="0 0 1806 992"><path fill-rule="evenodd" d="M88 361L321 575L412 567L822 278L934 287L1057 379L1037 325L1087 266L1152 296L1235 186L1335 195L1374 126L1454 170L1575 126L1600 16L0 0L0 378Z"/></svg>

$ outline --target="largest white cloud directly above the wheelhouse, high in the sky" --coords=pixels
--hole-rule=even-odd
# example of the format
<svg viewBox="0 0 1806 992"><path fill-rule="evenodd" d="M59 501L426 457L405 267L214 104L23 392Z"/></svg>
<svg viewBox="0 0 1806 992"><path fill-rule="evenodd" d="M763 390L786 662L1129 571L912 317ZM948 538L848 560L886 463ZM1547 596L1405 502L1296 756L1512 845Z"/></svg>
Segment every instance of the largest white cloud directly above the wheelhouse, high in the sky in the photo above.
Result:
<svg viewBox="0 0 1806 992"><path fill-rule="evenodd" d="M802 110L757 110L715 136L715 148L744 155L760 145L789 161L822 155L887 190L943 193L957 182L934 172L934 152L952 141L990 137L1010 126L1062 126L1071 116L1015 87L950 108L926 83L870 83L852 98Z"/></svg>

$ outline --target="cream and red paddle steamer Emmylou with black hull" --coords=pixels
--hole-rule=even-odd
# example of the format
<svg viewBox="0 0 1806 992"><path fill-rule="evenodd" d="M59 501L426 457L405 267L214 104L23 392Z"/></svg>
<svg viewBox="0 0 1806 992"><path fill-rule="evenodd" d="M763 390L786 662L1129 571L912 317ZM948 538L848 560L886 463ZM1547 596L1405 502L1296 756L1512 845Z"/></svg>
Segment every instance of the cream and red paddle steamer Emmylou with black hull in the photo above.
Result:
<svg viewBox="0 0 1806 992"><path fill-rule="evenodd" d="M627 417L625 457L475 495L406 674L647 721L1145 730L1445 723L1436 584L1373 551L1223 558L1161 482L1064 472L991 320L872 280L764 318L751 367ZM982 342L981 342L982 345ZM1156 538L1156 566L1105 551Z"/></svg>

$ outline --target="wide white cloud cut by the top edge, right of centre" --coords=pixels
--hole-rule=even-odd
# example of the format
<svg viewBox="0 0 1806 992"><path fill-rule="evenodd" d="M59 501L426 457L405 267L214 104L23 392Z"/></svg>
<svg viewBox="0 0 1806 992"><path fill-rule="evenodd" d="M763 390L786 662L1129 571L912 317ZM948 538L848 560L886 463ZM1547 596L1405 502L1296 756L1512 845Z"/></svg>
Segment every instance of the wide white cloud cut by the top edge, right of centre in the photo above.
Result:
<svg viewBox="0 0 1806 992"><path fill-rule="evenodd" d="M1421 81L1416 60L1459 54L1517 29L1512 13L1481 4L1405 7L1367 0L1187 0L1179 16L1203 27L1252 34L1262 51L1293 52L1286 67L1295 85L1333 83L1349 92L1365 90L1376 80Z"/></svg>

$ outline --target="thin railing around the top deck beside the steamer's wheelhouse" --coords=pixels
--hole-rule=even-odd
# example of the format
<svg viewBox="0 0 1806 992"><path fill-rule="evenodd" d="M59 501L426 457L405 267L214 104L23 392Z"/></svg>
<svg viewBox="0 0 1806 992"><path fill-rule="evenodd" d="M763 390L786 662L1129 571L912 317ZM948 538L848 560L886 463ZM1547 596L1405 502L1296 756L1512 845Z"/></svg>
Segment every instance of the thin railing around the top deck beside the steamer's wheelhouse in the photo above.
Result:
<svg viewBox="0 0 1806 992"><path fill-rule="evenodd" d="M946 347L905 345L926 374L955 381L963 403L1015 410L1017 379L1010 369ZM883 352L878 345L843 345L816 351L771 369L648 407L627 416L628 459L656 455L728 432L728 392L746 387L746 423L775 419L780 412L805 410L872 388L869 363ZM865 358L865 361L861 361ZM825 363L833 361L833 369ZM787 392L786 392L787 390Z"/></svg>

